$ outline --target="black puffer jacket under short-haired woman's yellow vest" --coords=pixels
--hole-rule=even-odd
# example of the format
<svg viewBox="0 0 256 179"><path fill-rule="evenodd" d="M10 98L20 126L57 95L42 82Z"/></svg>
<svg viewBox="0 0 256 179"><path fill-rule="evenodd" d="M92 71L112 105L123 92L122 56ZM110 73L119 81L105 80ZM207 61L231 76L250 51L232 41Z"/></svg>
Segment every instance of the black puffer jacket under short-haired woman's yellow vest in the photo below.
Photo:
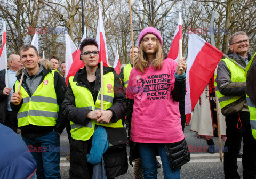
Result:
<svg viewBox="0 0 256 179"><path fill-rule="evenodd" d="M119 75L116 74L114 68L103 67L103 75L108 72L114 73L114 89L122 88L121 80ZM77 81L76 85L86 87L90 90L93 96L94 102L97 99L100 90L100 68L98 66L96 72L95 86L92 89L88 80L86 68L79 69L74 76L73 81ZM64 109L64 115L69 121L73 123L81 124L86 126L91 119L86 116L91 111L89 109L77 108L75 102L75 96L68 83L68 90L63 101L62 107ZM126 103L124 93L115 93L113 99L113 105L109 108L113 111L113 117L110 119L111 123L116 123L123 115L125 115ZM87 164L86 155L91 149L91 139L88 141L81 141L71 139L70 144L70 178L88 178L90 177L92 170L90 164ZM103 154L106 174L108 178L114 178L119 175L123 175L127 172L128 162L127 162L127 152L126 148L122 149L108 149L105 154Z"/></svg>

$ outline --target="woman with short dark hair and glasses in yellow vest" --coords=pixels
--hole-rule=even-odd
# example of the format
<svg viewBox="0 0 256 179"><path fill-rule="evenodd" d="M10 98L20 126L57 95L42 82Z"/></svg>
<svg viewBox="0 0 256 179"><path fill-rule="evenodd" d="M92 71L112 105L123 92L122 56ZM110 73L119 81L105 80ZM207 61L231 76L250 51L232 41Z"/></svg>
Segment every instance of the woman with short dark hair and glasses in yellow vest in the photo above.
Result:
<svg viewBox="0 0 256 179"><path fill-rule="evenodd" d="M119 91L122 84L114 68L103 67L103 92L100 90L99 50L96 40L84 39L80 51L85 66L69 78L62 106L71 125L70 178L92 178L93 165L87 162L86 156L92 148L94 129L99 125L123 128L121 117L125 113L126 104L124 93ZM104 94L104 110L101 110L101 93ZM118 176L127 171L126 149L113 153L111 159L106 161L104 158L104 161L106 172L110 171ZM108 168L111 165L112 168Z"/></svg>

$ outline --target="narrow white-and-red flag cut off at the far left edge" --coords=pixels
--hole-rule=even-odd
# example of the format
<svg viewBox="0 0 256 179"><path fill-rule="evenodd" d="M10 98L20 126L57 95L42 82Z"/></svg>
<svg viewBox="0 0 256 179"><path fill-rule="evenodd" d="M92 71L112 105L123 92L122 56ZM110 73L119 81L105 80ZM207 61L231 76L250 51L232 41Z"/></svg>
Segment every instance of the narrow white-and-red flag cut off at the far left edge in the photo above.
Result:
<svg viewBox="0 0 256 179"><path fill-rule="evenodd" d="M7 54L6 54L6 23L3 22L2 29L2 46L0 48L0 70L7 70Z"/></svg>

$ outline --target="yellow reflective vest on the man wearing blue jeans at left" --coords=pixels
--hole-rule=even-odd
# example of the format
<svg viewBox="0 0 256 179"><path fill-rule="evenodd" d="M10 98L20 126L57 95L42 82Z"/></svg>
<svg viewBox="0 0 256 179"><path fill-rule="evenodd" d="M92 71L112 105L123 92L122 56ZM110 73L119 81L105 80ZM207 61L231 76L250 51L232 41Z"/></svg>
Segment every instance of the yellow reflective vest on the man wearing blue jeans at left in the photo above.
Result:
<svg viewBox="0 0 256 179"><path fill-rule="evenodd" d="M20 93L23 103L18 112L18 127L33 124L36 126L55 126L58 117L59 105L54 88L54 70L44 77L36 91L29 97L21 86ZM18 90L19 81L15 82L15 91Z"/></svg>

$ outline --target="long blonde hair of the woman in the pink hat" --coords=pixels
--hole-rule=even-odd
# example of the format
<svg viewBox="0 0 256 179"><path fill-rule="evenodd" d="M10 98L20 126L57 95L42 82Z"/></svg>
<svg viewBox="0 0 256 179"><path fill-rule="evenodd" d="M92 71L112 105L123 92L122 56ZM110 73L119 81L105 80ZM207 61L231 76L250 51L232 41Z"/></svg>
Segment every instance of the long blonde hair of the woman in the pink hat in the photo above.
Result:
<svg viewBox="0 0 256 179"><path fill-rule="evenodd" d="M142 39L140 46L139 46L138 59L135 61L135 64L134 64L135 69L138 69L141 72L144 72L145 68L148 67L147 54L146 54L145 50L146 50L146 48L143 45L143 39ZM154 53L154 57L155 57L155 59L152 61L153 68L155 70L159 70L163 66L164 52L162 50L162 47L160 45L158 38L157 38L157 46L156 46L156 52Z"/></svg>

